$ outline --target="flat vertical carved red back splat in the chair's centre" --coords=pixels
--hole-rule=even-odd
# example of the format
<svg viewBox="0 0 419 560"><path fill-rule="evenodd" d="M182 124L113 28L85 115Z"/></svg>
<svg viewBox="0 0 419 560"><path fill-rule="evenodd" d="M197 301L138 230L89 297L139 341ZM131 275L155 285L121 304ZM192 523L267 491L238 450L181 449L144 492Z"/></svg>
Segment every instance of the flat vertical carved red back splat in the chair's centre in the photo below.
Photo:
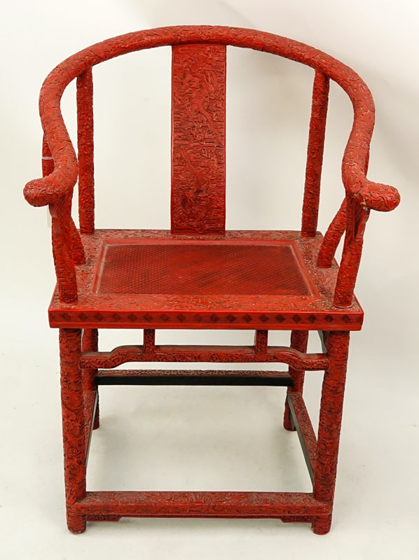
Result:
<svg viewBox="0 0 419 560"><path fill-rule="evenodd" d="M226 45L172 48L174 234L226 229Z"/></svg>

